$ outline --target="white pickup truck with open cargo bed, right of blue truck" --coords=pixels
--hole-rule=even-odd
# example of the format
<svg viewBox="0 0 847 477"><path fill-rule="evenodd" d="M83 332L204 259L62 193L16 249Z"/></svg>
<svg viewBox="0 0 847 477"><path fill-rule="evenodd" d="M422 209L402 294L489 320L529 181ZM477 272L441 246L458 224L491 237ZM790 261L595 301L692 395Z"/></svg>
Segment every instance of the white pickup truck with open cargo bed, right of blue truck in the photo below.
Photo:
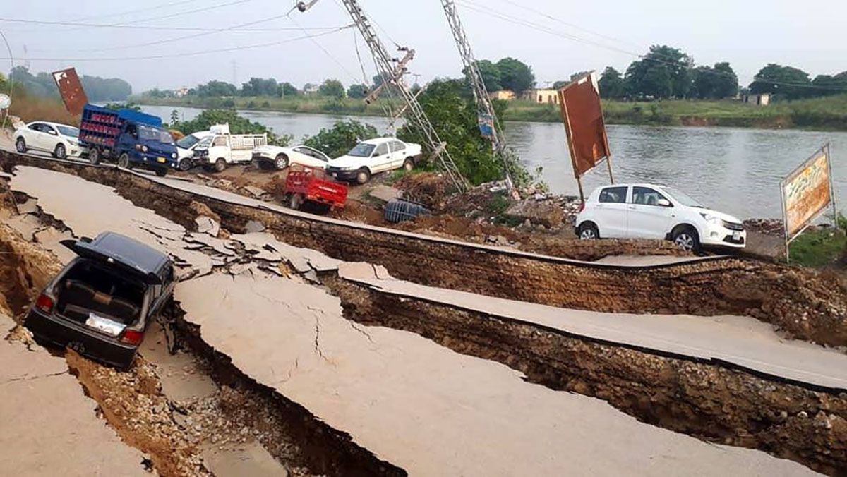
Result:
<svg viewBox="0 0 847 477"><path fill-rule="evenodd" d="M226 128L200 141L191 159L194 164L220 172L230 164L250 163L253 149L267 144L267 134L230 134Z"/></svg>

